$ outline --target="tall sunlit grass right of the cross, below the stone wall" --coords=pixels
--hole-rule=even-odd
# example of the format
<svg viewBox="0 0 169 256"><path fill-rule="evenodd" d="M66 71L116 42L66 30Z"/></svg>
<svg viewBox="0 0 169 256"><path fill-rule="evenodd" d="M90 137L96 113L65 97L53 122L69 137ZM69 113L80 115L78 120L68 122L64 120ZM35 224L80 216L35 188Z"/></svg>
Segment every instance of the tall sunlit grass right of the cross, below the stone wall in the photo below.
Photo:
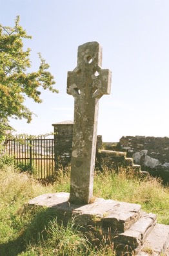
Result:
<svg viewBox="0 0 169 256"><path fill-rule="evenodd" d="M160 180L139 178L132 170L121 169L119 174L105 169L96 172L94 194L105 199L141 204L144 211L157 214L157 221L169 225L169 188Z"/></svg>

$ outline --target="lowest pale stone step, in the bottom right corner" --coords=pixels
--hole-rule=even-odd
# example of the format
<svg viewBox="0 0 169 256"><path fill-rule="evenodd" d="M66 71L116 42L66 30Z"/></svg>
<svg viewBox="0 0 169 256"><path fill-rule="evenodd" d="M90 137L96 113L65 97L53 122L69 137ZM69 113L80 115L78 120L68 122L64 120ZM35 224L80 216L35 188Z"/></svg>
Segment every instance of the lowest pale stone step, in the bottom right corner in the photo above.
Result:
<svg viewBox="0 0 169 256"><path fill-rule="evenodd" d="M146 255L169 255L169 226L164 224L155 225L138 253L138 256Z"/></svg>

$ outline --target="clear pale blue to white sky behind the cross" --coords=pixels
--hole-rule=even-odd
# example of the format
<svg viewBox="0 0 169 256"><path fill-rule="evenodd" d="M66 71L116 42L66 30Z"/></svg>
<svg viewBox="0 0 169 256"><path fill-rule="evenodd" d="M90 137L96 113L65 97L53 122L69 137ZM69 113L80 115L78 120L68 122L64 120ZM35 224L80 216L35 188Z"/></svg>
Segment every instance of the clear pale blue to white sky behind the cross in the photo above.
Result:
<svg viewBox="0 0 169 256"><path fill-rule="evenodd" d="M67 71L77 65L77 47L98 41L103 69L112 71L111 95L99 101L98 135L169 137L168 0L1 0L0 23L20 24L33 38L32 70L41 52L59 94L44 91L43 103L26 100L37 117L12 121L18 134L52 132L52 124L74 119L74 98L66 95Z"/></svg>

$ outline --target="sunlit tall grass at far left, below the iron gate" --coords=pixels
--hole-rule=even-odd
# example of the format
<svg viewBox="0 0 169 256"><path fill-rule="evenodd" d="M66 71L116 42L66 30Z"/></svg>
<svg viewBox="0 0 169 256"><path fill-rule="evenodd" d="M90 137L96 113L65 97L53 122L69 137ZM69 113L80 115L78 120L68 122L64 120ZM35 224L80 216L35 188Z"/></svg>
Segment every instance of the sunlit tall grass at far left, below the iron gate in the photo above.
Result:
<svg viewBox="0 0 169 256"><path fill-rule="evenodd" d="M1 244L15 239L29 221L28 215L19 213L21 207L30 198L48 191L52 191L52 187L41 186L34 178L17 172L14 167L6 166L0 170Z"/></svg>

